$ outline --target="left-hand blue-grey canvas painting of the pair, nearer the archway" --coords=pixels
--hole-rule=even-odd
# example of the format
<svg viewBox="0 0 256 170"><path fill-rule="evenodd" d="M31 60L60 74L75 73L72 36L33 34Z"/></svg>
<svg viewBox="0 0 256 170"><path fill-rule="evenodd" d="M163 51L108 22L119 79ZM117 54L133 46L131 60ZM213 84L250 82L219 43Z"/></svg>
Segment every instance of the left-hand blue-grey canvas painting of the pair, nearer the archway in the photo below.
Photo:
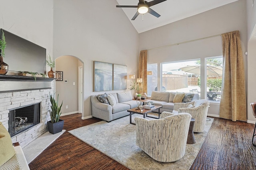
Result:
<svg viewBox="0 0 256 170"><path fill-rule="evenodd" d="M94 61L94 92L113 90L113 64Z"/></svg>

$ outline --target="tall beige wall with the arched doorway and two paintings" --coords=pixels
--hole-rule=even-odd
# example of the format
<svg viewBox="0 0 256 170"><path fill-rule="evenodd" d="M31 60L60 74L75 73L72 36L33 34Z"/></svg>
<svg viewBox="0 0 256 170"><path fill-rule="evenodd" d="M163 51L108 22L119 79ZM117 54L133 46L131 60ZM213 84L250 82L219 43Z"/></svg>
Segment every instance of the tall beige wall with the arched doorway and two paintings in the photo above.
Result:
<svg viewBox="0 0 256 170"><path fill-rule="evenodd" d="M104 93L93 92L93 61L137 72L138 33L116 5L116 0L54 0L53 57L72 55L84 63L83 118L91 115L90 96Z"/></svg>

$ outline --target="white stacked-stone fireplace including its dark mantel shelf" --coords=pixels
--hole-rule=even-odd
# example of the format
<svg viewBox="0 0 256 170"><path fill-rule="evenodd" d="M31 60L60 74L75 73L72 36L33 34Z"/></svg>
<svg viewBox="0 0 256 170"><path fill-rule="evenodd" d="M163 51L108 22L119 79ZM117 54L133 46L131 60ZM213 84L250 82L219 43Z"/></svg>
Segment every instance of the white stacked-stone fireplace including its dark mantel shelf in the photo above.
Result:
<svg viewBox="0 0 256 170"><path fill-rule="evenodd" d="M6 80L8 78L8 80ZM27 77L26 77L27 78ZM39 104L39 122L23 129L20 133L12 135L12 142L19 142L23 148L36 138L44 134L47 129L47 121L50 120L50 93L53 94L53 78L34 78L24 80L23 76L0 75L0 121L9 131L10 111ZM19 116L26 117L26 116ZM34 118L33 118L34 119ZM13 131L13 129L12 129ZM9 131L10 132L10 131Z"/></svg>

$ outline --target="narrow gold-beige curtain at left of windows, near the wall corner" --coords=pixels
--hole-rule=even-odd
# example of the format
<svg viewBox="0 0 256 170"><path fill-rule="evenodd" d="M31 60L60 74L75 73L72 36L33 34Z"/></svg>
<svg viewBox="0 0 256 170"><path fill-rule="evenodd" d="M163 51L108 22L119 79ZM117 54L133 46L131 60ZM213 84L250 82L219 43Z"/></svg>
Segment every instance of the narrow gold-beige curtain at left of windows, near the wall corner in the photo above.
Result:
<svg viewBox="0 0 256 170"><path fill-rule="evenodd" d="M147 50L140 51L139 57L139 76L142 78L142 83L140 84L142 91L140 93L147 93Z"/></svg>

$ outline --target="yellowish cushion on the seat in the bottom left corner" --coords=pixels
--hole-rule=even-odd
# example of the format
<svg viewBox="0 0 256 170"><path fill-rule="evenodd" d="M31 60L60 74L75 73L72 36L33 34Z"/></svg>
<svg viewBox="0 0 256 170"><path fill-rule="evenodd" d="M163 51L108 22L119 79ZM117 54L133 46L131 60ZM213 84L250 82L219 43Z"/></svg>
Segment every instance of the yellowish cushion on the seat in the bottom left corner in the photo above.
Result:
<svg viewBox="0 0 256 170"><path fill-rule="evenodd" d="M2 166L2 164L7 162L15 154L10 134L2 122L0 122L0 146L0 166Z"/></svg>

